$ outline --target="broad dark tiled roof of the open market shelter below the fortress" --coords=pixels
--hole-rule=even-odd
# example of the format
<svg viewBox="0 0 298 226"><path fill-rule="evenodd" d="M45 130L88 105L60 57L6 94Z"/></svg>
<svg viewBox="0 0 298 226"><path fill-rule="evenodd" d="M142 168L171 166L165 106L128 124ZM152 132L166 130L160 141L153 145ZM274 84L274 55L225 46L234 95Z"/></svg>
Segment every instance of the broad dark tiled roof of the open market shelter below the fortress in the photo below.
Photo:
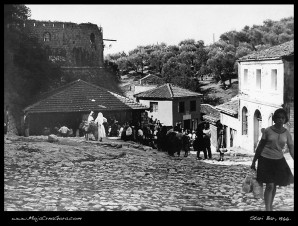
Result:
<svg viewBox="0 0 298 226"><path fill-rule="evenodd" d="M148 109L148 107L79 79L52 91L51 95L28 106L24 111L48 113L132 109Z"/></svg>

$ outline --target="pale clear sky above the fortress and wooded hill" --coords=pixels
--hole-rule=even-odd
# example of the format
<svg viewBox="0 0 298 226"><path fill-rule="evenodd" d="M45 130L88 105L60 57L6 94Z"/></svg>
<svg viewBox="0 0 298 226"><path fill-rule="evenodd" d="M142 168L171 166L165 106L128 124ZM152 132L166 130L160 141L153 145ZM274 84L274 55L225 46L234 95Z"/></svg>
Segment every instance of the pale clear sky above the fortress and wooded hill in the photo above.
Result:
<svg viewBox="0 0 298 226"><path fill-rule="evenodd" d="M244 26L262 25L264 20L278 21L294 17L294 5L26 5L30 19L93 23L101 26L104 55L128 53L137 46L164 42L178 45L186 39L203 40L205 45L218 41L225 32Z"/></svg>

